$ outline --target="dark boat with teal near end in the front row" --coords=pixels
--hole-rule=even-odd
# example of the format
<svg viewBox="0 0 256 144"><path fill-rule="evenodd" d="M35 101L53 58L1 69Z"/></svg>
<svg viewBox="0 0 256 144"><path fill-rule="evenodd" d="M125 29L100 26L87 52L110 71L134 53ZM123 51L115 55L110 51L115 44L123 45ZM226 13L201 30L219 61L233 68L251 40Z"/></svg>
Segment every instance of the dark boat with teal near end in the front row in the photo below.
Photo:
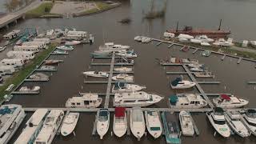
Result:
<svg viewBox="0 0 256 144"><path fill-rule="evenodd" d="M178 127L177 118L170 112L162 112L162 123L166 136L166 143L168 144L180 144L182 140L180 138L180 130Z"/></svg>

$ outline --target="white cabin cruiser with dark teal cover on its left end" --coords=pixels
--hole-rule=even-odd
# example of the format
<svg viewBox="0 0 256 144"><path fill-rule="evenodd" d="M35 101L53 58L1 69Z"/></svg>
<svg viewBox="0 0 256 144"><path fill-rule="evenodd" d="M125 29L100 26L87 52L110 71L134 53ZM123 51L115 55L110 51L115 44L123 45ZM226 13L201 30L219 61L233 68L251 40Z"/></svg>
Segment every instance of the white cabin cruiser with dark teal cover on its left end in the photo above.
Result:
<svg viewBox="0 0 256 144"><path fill-rule="evenodd" d="M169 98L171 108L199 109L207 106L207 102L198 94L176 94Z"/></svg>

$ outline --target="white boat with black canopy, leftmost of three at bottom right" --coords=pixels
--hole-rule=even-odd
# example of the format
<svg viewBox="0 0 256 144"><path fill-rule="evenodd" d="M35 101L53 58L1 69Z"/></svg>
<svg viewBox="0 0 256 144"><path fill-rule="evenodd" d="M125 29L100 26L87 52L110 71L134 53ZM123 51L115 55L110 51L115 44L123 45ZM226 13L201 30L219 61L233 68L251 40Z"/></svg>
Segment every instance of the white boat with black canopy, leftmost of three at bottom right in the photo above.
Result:
<svg viewBox="0 0 256 144"><path fill-rule="evenodd" d="M214 111L207 112L206 116L218 134L222 135L224 138L230 137L230 127L226 124L222 108L215 107Z"/></svg>

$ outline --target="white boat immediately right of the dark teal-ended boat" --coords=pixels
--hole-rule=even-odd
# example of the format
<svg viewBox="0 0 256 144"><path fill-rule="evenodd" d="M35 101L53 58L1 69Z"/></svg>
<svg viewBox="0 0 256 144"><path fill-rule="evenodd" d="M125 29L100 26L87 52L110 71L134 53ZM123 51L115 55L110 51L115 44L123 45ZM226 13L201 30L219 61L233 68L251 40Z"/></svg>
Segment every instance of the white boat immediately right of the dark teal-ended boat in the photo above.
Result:
<svg viewBox="0 0 256 144"><path fill-rule="evenodd" d="M191 136L194 135L194 126L192 122L192 117L189 112L186 112L185 110L182 110L179 113L179 122L181 124L182 128L182 134L184 136Z"/></svg>

